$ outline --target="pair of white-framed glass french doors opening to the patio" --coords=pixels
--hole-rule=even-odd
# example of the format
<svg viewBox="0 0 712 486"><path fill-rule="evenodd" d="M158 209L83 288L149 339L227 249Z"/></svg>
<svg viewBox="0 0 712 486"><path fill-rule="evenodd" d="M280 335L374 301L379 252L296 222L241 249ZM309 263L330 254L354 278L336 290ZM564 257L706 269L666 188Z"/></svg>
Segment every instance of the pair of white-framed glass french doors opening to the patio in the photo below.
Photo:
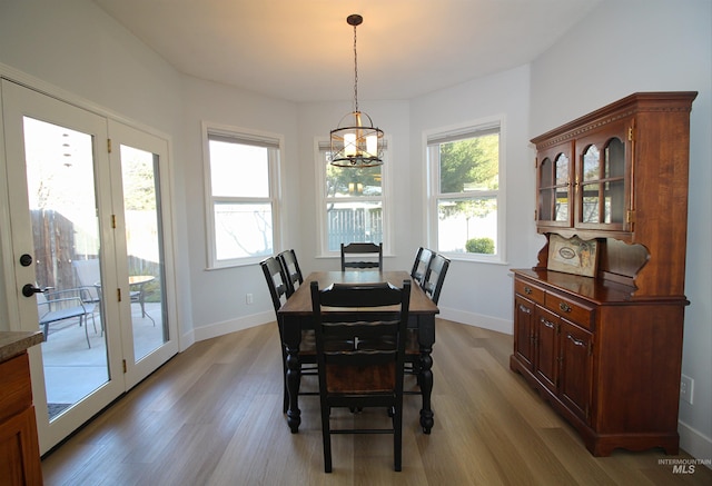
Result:
<svg viewBox="0 0 712 486"><path fill-rule="evenodd" d="M13 328L43 333L30 368L44 453L177 351L160 205L167 150L6 80L2 115ZM138 142L112 149L110 130Z"/></svg>

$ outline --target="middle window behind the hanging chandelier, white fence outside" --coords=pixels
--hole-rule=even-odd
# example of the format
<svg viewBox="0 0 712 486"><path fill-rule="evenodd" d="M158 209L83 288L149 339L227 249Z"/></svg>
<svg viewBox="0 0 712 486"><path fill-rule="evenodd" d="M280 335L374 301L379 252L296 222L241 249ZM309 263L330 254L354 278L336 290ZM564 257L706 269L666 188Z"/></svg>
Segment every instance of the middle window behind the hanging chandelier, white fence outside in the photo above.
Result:
<svg viewBox="0 0 712 486"><path fill-rule="evenodd" d="M383 242L388 251L388 160L384 143L384 165L363 169L329 163L328 141L317 143L318 227L320 254L340 252L352 241Z"/></svg>

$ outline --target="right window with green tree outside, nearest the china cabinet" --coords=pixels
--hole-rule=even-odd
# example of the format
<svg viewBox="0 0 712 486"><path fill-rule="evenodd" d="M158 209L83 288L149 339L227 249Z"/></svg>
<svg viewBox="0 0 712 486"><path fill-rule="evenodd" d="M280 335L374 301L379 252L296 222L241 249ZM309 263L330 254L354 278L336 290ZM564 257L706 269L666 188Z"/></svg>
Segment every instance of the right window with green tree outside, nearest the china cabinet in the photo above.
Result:
<svg viewBox="0 0 712 486"><path fill-rule="evenodd" d="M504 260L502 120L427 136L429 234L437 251Z"/></svg>

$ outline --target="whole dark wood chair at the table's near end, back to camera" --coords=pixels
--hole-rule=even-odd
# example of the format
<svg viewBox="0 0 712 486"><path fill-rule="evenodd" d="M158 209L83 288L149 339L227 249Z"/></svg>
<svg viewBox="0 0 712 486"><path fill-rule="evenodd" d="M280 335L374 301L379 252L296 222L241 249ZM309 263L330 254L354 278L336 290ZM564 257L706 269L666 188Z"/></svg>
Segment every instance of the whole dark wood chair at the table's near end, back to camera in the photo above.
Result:
<svg viewBox="0 0 712 486"><path fill-rule="evenodd" d="M400 470L404 336L411 281L405 280L402 289L382 282L334 284L324 290L319 290L315 281L310 290L319 368L324 470L332 472L333 434L393 434L394 467ZM357 310L323 310L323 306L348 309L396 305L398 310L374 315ZM350 410L383 407L392 417L392 427L333 429L329 415L336 407Z"/></svg>

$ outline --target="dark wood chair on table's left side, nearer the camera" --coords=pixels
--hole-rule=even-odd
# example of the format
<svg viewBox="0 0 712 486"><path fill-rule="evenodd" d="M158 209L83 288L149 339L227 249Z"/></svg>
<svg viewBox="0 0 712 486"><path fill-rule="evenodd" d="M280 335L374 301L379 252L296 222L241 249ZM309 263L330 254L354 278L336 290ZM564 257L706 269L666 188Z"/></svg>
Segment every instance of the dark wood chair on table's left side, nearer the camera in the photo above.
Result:
<svg viewBox="0 0 712 486"><path fill-rule="evenodd" d="M283 411L286 413L289 407L289 393L287 391L287 348L283 339L281 323L277 310L287 300L288 277L285 272L283 265L275 257L269 257L260 261L260 267L265 274L265 280L267 281L267 288L271 297L273 306L275 307L275 315L277 317L277 326L279 328L279 346L281 348L281 365L283 365L283 380L284 380L284 395L283 395ZM299 345L299 365L301 375L316 375L316 345L313 330L301 331L301 344ZM306 391L299 395L317 395L316 393Z"/></svg>

